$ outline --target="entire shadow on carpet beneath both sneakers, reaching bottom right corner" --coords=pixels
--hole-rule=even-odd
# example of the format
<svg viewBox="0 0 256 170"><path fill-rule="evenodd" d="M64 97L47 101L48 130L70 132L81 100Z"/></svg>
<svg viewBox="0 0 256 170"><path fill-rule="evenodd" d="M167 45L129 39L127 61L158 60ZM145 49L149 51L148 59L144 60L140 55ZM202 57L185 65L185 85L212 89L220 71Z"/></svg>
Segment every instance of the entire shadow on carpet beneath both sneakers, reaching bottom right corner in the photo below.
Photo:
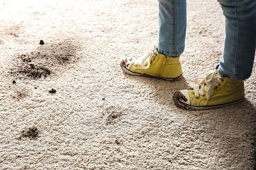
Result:
<svg viewBox="0 0 256 170"><path fill-rule="evenodd" d="M170 119L175 115L180 118L179 122L184 122L186 130L179 124L178 141L185 146L188 144L184 141L195 137L190 147L209 158L208 166L256 168L256 106L250 100L206 111L187 111L176 107L172 99L175 91L191 87L184 77L176 82L142 76L127 75L126 78L137 86L131 91L141 93L137 95L140 101L147 100L147 104L154 105L154 110L166 112L163 114L169 114Z"/></svg>

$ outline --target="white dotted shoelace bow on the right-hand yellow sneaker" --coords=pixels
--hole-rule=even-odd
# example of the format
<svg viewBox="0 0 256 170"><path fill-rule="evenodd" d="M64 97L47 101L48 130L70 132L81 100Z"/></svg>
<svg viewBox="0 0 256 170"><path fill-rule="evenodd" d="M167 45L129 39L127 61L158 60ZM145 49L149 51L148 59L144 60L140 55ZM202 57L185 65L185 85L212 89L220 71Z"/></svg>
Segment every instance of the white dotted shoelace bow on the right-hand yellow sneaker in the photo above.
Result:
<svg viewBox="0 0 256 170"><path fill-rule="evenodd" d="M217 75L215 71L210 71L204 74L205 77L199 77L195 79L195 91L196 98L199 99L199 94L205 96L204 91L207 92L207 102L213 95L213 89L217 88L223 82L223 79ZM206 103L207 103L206 102Z"/></svg>

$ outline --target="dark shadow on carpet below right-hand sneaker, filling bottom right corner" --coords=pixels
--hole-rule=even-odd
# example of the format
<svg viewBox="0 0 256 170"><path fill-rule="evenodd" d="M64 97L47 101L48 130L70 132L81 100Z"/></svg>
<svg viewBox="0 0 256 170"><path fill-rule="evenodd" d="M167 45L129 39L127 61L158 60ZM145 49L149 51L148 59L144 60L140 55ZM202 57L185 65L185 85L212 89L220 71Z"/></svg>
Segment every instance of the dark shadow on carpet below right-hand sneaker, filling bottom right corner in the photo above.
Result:
<svg viewBox="0 0 256 170"><path fill-rule="evenodd" d="M189 122L195 122L207 136L207 148L216 163L226 161L226 166L256 169L256 106L245 99L243 102L208 111L185 111Z"/></svg>

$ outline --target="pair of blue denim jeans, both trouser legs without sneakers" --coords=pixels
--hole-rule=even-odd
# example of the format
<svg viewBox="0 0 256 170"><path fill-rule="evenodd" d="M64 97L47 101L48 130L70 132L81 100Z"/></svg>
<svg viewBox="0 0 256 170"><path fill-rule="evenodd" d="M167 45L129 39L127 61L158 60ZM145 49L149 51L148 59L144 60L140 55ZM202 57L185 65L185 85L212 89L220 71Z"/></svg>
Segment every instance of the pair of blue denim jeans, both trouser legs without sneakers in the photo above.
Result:
<svg viewBox="0 0 256 170"><path fill-rule="evenodd" d="M256 0L217 0L225 18L224 46L218 72L232 80L248 79L256 49ZM179 56L185 47L186 0L158 0L158 52Z"/></svg>

